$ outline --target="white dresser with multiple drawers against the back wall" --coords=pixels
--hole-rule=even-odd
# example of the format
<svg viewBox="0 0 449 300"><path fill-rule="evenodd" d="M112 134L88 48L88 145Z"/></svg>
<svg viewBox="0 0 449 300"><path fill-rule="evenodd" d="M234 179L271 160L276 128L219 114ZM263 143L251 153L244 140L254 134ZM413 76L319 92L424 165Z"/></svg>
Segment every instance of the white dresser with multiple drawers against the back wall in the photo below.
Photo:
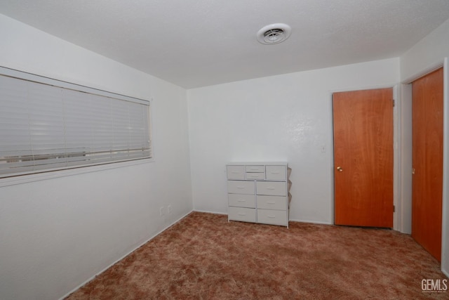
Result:
<svg viewBox="0 0 449 300"><path fill-rule="evenodd" d="M291 169L286 162L236 162L226 169L228 221L288 227Z"/></svg>

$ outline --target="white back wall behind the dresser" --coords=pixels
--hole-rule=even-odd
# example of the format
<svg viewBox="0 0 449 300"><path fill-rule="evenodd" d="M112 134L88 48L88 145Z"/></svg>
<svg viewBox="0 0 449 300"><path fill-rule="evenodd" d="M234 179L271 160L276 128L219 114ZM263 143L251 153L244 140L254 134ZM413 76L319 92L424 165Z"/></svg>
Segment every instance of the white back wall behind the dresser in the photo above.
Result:
<svg viewBox="0 0 449 300"><path fill-rule="evenodd" d="M281 160L290 220L333 223L331 95L398 81L392 58L187 91L194 209L227 213L227 162Z"/></svg>

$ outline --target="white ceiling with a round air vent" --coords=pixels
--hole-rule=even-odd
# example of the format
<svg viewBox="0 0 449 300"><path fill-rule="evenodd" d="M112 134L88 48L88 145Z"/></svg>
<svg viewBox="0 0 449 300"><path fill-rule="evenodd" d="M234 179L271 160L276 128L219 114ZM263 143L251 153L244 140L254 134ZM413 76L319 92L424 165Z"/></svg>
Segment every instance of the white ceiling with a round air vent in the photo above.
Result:
<svg viewBox="0 0 449 300"><path fill-rule="evenodd" d="M2 0L0 13L186 89L400 56L448 0ZM292 28L262 45L260 28Z"/></svg>

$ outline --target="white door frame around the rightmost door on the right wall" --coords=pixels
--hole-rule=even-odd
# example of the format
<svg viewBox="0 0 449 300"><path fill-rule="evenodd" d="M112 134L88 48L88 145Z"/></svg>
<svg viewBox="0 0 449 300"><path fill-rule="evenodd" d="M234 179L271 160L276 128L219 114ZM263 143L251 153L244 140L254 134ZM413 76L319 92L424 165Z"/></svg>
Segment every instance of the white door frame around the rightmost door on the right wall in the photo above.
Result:
<svg viewBox="0 0 449 300"><path fill-rule="evenodd" d="M403 207L410 207L410 211L406 209L403 211L403 223L402 228L406 231L399 230L404 233L411 233L411 202L412 202L412 176L411 176L411 164L412 164L412 86L411 83L416 79L423 77L426 74L433 72L434 70L443 67L443 199L442 199L442 232L441 232L441 270L449 277L449 62L448 58L438 61L434 65L430 65L427 68L417 72L417 74L401 81L401 140L399 148L401 150L401 167L403 173L406 172L407 166L410 166L410 174L403 174L401 176L401 197L400 202ZM410 136L410 141L408 141ZM410 219L410 220L409 220Z"/></svg>

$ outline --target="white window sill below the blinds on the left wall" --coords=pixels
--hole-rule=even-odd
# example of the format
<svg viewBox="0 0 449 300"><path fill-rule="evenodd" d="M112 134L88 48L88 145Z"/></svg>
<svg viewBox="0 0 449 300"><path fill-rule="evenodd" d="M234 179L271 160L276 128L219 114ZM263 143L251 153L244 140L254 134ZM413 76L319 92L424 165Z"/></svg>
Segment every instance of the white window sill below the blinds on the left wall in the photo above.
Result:
<svg viewBox="0 0 449 300"><path fill-rule="evenodd" d="M21 183L29 183L33 181L42 181L52 178L60 178L65 176L73 176L78 174L105 171L109 169L117 169L123 167L135 166L137 164L148 164L154 162L154 158L131 160L128 162L114 162L112 164L101 164L98 166L80 167L76 169L65 169L58 171L48 171L39 174L28 174L11 178L0 178L0 188L8 185L16 185Z"/></svg>

